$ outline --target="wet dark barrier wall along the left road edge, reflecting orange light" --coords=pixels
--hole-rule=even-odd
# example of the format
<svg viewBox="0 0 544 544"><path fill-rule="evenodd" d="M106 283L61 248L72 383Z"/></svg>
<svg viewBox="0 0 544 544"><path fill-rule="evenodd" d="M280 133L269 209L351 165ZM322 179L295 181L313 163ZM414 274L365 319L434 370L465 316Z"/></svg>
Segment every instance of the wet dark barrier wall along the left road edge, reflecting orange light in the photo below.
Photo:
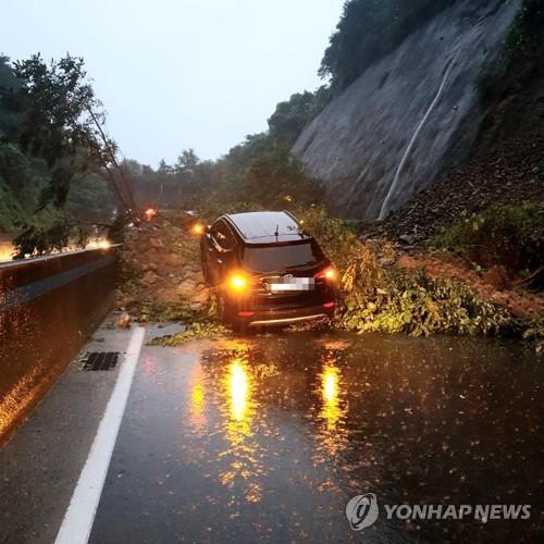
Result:
<svg viewBox="0 0 544 544"><path fill-rule="evenodd" d="M119 248L0 264L0 445L108 313Z"/></svg>

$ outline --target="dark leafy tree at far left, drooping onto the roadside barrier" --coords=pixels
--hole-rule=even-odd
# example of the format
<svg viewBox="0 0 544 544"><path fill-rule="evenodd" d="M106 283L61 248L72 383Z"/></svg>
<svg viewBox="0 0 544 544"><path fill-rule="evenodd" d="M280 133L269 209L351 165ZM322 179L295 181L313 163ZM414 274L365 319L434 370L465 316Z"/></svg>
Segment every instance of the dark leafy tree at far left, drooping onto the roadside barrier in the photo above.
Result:
<svg viewBox="0 0 544 544"><path fill-rule="evenodd" d="M9 185L20 209L34 208L18 225L18 257L59 248L74 236L83 239L85 225L65 209L74 185L75 209L85 199L99 202L99 195L102 201L112 198L112 189L131 206L128 191L122 193L110 172L116 146L106 135L104 119L83 59L66 54L46 63L36 54L12 65L0 60L0 183ZM90 174L107 175L110 190L103 182L94 188L98 177ZM39 189L38 198L29 187Z"/></svg>

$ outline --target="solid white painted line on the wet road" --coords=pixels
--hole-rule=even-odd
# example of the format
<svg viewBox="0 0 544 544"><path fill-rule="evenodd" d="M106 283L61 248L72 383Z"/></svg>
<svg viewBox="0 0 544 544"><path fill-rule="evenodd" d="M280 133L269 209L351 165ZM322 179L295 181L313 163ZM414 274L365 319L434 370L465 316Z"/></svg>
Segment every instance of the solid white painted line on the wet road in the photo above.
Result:
<svg viewBox="0 0 544 544"><path fill-rule="evenodd" d="M133 382L139 353L144 344L145 329L137 327L128 343L125 359L115 382L108 406L90 447L85 467L70 500L70 506L57 534L55 544L86 544L102 493L111 454L118 438Z"/></svg>

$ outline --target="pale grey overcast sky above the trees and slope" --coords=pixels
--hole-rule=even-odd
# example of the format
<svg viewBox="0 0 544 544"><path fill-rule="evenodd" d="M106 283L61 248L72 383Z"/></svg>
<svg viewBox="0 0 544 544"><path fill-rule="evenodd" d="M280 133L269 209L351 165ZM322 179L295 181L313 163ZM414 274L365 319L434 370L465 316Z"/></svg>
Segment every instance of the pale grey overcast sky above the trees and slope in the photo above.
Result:
<svg viewBox="0 0 544 544"><path fill-rule="evenodd" d="M313 90L344 0L21 0L2 7L0 52L86 61L127 158L205 159L263 131Z"/></svg>

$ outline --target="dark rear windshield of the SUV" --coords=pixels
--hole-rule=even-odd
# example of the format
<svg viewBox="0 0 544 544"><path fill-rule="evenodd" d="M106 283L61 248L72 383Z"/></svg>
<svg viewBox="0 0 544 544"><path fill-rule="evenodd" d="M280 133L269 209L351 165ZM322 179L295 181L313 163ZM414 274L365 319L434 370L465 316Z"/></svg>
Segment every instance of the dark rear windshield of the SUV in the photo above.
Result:
<svg viewBox="0 0 544 544"><path fill-rule="evenodd" d="M246 246L243 257L244 267L254 272L282 272L318 264L322 260L323 254L313 240L284 246Z"/></svg>

